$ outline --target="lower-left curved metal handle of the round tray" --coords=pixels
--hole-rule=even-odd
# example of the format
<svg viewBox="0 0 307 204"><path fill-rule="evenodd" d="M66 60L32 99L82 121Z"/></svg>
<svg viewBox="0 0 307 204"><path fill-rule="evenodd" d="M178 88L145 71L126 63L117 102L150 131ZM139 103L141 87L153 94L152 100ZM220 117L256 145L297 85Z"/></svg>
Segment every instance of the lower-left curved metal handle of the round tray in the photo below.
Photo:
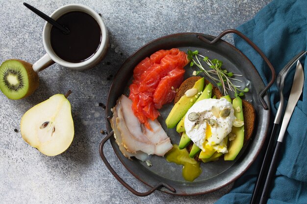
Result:
<svg viewBox="0 0 307 204"><path fill-rule="evenodd" d="M155 190L157 190L160 187L165 187L168 190L170 190L171 192L176 192L175 188L173 188L172 186L170 186L167 183L164 182L159 182L157 183L155 186L153 186L149 191L144 192L144 193L140 193L136 190L134 190L131 186L128 185L128 183L126 183L115 171L114 169L111 167L110 163L107 161L107 159L105 158L104 154L103 154L103 145L105 144L105 142L110 139L111 136L114 135L113 130L102 139L102 142L100 143L99 146L99 153L100 153L100 157L102 158L102 161L104 162L105 166L109 169L109 171L113 174L113 176L120 182L122 183L129 191L131 191L134 195L137 196L148 196L150 194L152 194Z"/></svg>

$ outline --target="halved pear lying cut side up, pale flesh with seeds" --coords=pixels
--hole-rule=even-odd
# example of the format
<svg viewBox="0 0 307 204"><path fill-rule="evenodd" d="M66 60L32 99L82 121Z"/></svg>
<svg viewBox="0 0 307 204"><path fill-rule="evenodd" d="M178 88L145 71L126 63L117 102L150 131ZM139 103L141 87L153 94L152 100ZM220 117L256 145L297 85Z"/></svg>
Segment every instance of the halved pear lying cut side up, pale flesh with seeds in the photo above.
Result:
<svg viewBox="0 0 307 204"><path fill-rule="evenodd" d="M23 139L47 156L64 152L75 134L71 106L63 94L55 94L29 109L20 126Z"/></svg>

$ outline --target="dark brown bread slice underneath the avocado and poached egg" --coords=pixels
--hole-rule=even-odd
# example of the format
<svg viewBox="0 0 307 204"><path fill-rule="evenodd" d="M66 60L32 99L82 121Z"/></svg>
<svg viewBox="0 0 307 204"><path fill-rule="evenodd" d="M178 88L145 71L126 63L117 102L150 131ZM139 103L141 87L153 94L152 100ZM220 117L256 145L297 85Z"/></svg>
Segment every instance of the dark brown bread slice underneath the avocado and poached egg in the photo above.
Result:
<svg viewBox="0 0 307 204"><path fill-rule="evenodd" d="M179 101L181 96L184 95L185 91L192 89L195 82L197 82L201 78L202 77L200 76L192 76L184 80L176 93L174 104ZM205 85L209 83L210 82L205 79ZM216 98L218 99L223 96L223 94L217 87L212 86L212 96L214 95L216 95ZM255 112L253 105L246 100L242 100L242 108L243 108L243 116L244 116L244 143L245 143L253 135L253 131L255 127L255 120L256 120L256 112ZM190 145L187 146L187 150L189 152L191 151L192 146L193 146L192 143L190 143Z"/></svg>

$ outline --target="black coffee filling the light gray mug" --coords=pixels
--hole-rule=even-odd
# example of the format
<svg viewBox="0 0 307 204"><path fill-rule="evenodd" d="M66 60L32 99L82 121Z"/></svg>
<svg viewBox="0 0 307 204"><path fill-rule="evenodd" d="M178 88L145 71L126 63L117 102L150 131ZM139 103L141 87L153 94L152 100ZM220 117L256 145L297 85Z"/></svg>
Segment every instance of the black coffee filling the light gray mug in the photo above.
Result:
<svg viewBox="0 0 307 204"><path fill-rule="evenodd" d="M91 15L82 11L71 11L60 16L56 22L70 30L66 35L56 27L51 27L51 47L59 58L66 62L79 63L97 52L102 32Z"/></svg>

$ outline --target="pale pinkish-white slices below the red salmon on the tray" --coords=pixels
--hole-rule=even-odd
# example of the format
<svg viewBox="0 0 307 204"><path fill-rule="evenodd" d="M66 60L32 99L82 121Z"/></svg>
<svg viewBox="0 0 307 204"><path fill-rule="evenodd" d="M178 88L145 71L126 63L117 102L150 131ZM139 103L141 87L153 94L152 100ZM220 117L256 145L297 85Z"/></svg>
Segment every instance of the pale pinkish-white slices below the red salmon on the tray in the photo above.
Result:
<svg viewBox="0 0 307 204"><path fill-rule="evenodd" d="M132 101L122 95L113 108L111 126L121 152L129 159L144 160L144 154L164 156L173 146L161 124L156 119L150 120L153 131L148 130L133 114L131 106Z"/></svg>

